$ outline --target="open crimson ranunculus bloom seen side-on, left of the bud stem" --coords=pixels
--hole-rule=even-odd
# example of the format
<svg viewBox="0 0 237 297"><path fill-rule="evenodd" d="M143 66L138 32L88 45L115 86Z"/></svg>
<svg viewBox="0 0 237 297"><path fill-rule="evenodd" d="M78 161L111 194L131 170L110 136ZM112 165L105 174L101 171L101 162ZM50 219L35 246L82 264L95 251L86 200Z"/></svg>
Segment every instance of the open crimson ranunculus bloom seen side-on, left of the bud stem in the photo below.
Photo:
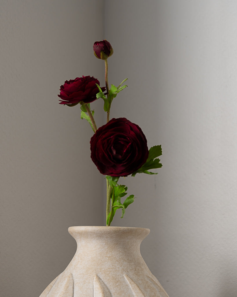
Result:
<svg viewBox="0 0 237 297"><path fill-rule="evenodd" d="M96 100L96 94L99 89L96 83L100 86L99 80L93 76L82 76L75 79L66 80L64 85L60 87L60 97L62 100L60 104L67 104L74 106L79 102L90 103ZM105 91L105 87L101 88Z"/></svg>

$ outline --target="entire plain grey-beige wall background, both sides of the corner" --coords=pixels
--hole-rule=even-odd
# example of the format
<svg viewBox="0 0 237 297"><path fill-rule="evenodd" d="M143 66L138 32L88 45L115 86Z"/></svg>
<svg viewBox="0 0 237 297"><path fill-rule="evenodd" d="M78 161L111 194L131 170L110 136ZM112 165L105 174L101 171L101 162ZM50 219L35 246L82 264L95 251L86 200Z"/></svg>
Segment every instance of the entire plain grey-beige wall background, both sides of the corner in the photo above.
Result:
<svg viewBox="0 0 237 297"><path fill-rule="evenodd" d="M129 78L112 116L164 152L157 176L125 179L137 199L113 225L151 229L142 255L170 297L237 296L236 15L224 0L0 1L0 296L39 296L75 252L67 228L104 225L90 127L57 103L65 80L102 84L103 38L109 83Z"/></svg>

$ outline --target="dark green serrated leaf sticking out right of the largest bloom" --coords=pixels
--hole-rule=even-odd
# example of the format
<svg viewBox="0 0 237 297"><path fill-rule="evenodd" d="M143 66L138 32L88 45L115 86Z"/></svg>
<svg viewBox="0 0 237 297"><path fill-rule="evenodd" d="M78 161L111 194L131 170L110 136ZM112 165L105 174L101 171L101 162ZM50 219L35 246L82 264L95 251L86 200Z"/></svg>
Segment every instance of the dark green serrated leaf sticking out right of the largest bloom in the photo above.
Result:
<svg viewBox="0 0 237 297"><path fill-rule="evenodd" d="M147 158L145 164L143 164L142 167L139 168L137 171L132 173L132 176L135 176L137 173L158 174L158 173L154 173L154 172L151 172L148 170L162 167L162 164L160 163L160 159L157 158L161 155L162 155L161 145L152 146L149 149L149 155L148 155L148 158Z"/></svg>

